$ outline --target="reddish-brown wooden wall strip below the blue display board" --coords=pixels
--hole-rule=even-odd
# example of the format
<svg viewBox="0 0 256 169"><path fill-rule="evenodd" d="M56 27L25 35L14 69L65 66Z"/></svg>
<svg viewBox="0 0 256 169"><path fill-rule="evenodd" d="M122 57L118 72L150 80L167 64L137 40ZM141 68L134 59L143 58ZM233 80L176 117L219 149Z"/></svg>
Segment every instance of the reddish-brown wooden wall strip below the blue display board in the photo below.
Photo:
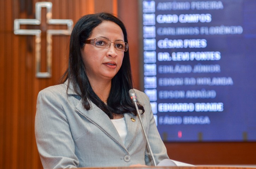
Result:
<svg viewBox="0 0 256 169"><path fill-rule="evenodd" d="M255 142L165 143L170 158L191 164L256 164Z"/></svg>

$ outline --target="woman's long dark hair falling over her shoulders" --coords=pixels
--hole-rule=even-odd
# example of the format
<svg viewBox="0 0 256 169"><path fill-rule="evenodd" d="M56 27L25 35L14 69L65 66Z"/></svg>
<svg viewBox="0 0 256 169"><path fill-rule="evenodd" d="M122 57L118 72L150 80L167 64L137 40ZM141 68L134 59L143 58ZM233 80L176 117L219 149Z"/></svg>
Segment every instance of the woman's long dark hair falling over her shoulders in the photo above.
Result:
<svg viewBox="0 0 256 169"><path fill-rule="evenodd" d="M110 119L113 119L113 113L132 113L137 115L135 106L129 96L129 90L133 88L129 49L124 52L121 68L112 79L107 105L95 94L85 72L81 49L84 46L85 40L91 36L93 29L103 21L112 21L120 26L124 34L124 41L128 43L125 26L114 15L110 13L96 13L83 16L77 21L71 33L69 67L62 76L61 83L68 80L68 87L72 83L75 92L81 96L83 107L86 110L91 108L90 100L102 109ZM142 105L138 104L138 108L144 113Z"/></svg>

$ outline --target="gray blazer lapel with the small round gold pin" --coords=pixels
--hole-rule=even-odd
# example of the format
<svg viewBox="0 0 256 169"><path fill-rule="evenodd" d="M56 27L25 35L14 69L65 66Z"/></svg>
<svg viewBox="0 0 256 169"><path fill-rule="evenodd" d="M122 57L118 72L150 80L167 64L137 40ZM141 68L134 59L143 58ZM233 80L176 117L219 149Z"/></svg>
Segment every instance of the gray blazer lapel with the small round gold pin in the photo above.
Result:
<svg viewBox="0 0 256 169"><path fill-rule="evenodd" d="M135 116L131 113L125 113L124 118L127 126L125 147L128 149L138 133L140 123L138 116ZM133 119L135 119L135 121Z"/></svg>

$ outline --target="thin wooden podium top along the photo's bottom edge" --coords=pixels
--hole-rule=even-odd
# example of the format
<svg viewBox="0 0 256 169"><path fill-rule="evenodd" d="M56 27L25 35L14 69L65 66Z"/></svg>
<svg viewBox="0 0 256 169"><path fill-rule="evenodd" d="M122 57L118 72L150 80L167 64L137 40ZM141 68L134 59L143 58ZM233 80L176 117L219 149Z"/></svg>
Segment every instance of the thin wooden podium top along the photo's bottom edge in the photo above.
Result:
<svg viewBox="0 0 256 169"><path fill-rule="evenodd" d="M81 169L256 169L256 167L233 167L233 166L196 166L196 167L99 167L99 168L81 168Z"/></svg>

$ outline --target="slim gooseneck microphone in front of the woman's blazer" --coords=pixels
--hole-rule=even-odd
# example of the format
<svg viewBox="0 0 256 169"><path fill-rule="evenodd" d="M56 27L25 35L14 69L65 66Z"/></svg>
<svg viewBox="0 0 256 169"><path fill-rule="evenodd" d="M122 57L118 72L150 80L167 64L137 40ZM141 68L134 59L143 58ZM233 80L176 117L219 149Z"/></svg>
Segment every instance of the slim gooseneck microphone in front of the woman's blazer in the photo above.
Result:
<svg viewBox="0 0 256 169"><path fill-rule="evenodd" d="M137 105L136 93L135 93L135 91L134 91L133 89L130 89L130 90L129 90L129 95L130 95L130 97L131 97L131 99L132 99L132 101L134 102L134 105L135 105L135 107L136 107L136 111L137 111L137 114L138 114L138 117L139 117L139 121L141 122L141 127L142 127L144 136L145 136L146 141L147 141L148 149L149 149L150 155L151 155L151 157L152 157L152 159L153 159L153 163L154 163L154 165L155 165L155 167L156 167L156 161L155 161L153 152L152 152L152 150L151 150L151 147L150 147L150 144L149 144L149 141L148 141L148 136L147 136L147 133L146 133L146 131L145 131L143 122L142 122L142 120L141 120L141 114L139 113L139 109L138 109L138 105Z"/></svg>

